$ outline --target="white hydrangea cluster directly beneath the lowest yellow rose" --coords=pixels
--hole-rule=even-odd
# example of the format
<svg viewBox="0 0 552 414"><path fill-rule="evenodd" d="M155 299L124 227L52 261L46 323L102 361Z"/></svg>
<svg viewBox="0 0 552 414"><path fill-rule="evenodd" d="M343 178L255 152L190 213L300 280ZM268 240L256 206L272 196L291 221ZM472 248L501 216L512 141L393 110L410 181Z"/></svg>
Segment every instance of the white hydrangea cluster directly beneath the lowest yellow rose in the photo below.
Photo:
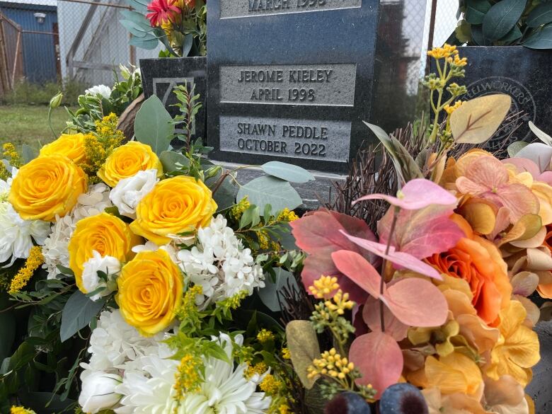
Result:
<svg viewBox="0 0 552 414"><path fill-rule="evenodd" d="M105 372L113 372L114 369L141 369L139 363L133 364L140 357L172 355L168 345L161 343L165 338L165 333L145 338L136 328L125 322L118 309L103 311L90 338L90 361L81 364L81 367Z"/></svg>

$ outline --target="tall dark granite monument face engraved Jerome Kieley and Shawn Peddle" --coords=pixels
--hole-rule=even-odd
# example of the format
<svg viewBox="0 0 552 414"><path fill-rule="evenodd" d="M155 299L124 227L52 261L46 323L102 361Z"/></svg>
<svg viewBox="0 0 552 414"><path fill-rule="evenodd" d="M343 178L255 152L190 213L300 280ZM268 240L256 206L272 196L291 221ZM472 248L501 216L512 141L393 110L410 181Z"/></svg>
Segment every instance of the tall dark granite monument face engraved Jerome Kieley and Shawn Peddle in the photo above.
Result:
<svg viewBox="0 0 552 414"><path fill-rule="evenodd" d="M368 132L378 0L213 0L209 155L345 172Z"/></svg>

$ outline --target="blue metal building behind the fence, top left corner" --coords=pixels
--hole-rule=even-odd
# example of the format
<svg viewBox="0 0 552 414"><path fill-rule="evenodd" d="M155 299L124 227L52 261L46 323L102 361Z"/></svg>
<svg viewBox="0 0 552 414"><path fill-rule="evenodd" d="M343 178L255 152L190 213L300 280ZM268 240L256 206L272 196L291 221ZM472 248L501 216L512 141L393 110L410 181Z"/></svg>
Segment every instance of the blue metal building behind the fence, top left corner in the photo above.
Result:
<svg viewBox="0 0 552 414"><path fill-rule="evenodd" d="M56 81L60 74L57 7L0 1L0 12L21 26L25 79Z"/></svg>

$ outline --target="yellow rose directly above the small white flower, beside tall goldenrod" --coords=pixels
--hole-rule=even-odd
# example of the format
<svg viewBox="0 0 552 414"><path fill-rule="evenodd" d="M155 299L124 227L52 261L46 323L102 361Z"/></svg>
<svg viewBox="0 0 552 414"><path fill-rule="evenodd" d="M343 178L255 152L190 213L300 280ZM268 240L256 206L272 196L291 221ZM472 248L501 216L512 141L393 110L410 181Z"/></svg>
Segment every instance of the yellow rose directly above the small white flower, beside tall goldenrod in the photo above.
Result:
<svg viewBox="0 0 552 414"><path fill-rule="evenodd" d="M104 183L115 187L123 178L134 176L138 171L157 170L157 176L163 175L163 166L151 146L141 142L131 141L119 146L105 160L98 171Z"/></svg>

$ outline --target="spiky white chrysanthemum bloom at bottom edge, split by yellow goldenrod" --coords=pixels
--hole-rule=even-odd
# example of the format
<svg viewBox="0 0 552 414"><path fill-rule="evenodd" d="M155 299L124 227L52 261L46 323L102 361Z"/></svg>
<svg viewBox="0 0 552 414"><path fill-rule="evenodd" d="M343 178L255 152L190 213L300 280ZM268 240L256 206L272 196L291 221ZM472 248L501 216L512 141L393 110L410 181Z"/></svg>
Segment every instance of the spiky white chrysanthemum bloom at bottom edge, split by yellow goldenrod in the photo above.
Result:
<svg viewBox="0 0 552 414"><path fill-rule="evenodd" d="M219 341L232 361L229 335L222 333L213 340ZM235 342L241 345L243 337L237 335ZM116 388L124 396L121 407L115 408L117 414L263 414L270 407L270 397L255 391L264 376L255 374L246 379L247 364L234 368L233 362L204 359L205 381L200 390L186 394L178 404L174 388L178 361L156 355L141 361L144 372L125 372L122 384Z"/></svg>

